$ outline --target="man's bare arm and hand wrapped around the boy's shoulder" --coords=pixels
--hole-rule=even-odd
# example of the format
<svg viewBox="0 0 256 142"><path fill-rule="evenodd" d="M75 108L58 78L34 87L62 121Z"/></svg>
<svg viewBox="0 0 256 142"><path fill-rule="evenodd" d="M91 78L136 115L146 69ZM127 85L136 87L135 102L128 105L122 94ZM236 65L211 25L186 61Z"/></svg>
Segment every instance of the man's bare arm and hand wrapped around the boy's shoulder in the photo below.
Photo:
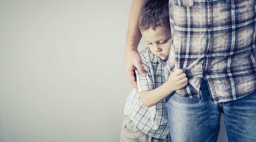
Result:
<svg viewBox="0 0 256 142"><path fill-rule="evenodd" d="M139 15L142 7L148 0L133 0L130 10L130 18L128 25L128 33L125 45L125 68L128 78L133 87L138 90L137 82L135 79L134 70L137 68L142 76L146 76L146 72L141 65L141 59L138 53L138 45L141 39L140 29L138 27Z"/></svg>

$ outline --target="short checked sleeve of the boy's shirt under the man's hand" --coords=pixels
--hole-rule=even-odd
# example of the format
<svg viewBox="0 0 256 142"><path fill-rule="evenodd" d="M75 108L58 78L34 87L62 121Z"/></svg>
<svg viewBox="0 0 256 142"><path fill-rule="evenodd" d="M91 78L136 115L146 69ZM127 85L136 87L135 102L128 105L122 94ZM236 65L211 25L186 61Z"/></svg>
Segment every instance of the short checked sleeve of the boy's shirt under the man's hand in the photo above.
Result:
<svg viewBox="0 0 256 142"><path fill-rule="evenodd" d="M151 66L150 62L148 62L146 59L141 59L141 64L143 68L145 69L147 76L142 76L138 70L135 70L136 73L136 79L137 79L137 87L138 91L145 91L145 90L153 90L153 80L152 80L152 75L151 75Z"/></svg>

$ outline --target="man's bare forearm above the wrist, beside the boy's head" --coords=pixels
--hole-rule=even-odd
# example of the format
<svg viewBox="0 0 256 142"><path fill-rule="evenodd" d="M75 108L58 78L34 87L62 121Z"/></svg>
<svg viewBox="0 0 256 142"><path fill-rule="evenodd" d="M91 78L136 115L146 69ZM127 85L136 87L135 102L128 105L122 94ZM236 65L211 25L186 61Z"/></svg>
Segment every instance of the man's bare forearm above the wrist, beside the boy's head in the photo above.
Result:
<svg viewBox="0 0 256 142"><path fill-rule="evenodd" d="M142 37L140 29L138 27L139 15L142 7L148 2L148 0L133 0L130 11L127 39L125 50L137 51L140 39Z"/></svg>

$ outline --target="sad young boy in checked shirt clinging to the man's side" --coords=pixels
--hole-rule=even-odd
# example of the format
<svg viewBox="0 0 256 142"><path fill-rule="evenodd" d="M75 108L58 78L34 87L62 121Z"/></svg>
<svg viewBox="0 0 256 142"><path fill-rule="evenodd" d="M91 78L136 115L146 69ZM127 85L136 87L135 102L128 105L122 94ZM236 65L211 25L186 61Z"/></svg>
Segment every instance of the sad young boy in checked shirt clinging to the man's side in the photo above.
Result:
<svg viewBox="0 0 256 142"><path fill-rule="evenodd" d="M140 13L139 28L149 46L140 52L147 76L135 70L138 91L133 89L127 98L121 142L169 141L164 98L186 86L188 79L179 69L165 82L164 65L172 42L168 11L168 1L151 0Z"/></svg>

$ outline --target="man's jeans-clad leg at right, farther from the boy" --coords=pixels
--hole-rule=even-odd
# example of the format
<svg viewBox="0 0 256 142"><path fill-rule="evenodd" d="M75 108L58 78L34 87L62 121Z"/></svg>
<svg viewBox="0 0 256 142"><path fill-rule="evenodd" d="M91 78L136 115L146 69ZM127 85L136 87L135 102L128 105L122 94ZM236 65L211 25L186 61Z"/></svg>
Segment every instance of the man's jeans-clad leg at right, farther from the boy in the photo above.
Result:
<svg viewBox="0 0 256 142"><path fill-rule="evenodd" d="M220 103L229 142L256 142L256 92Z"/></svg>

